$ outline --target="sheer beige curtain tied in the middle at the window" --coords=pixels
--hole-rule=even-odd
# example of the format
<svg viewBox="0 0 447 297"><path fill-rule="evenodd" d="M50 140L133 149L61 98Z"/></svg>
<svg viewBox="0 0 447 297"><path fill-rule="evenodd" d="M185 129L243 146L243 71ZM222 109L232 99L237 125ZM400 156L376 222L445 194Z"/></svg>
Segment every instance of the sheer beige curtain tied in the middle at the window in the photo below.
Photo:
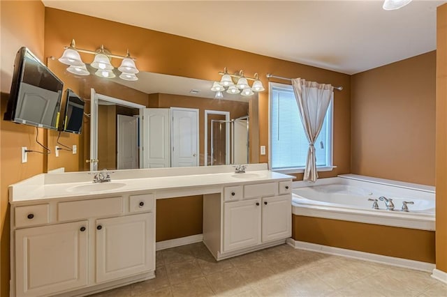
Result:
<svg viewBox="0 0 447 297"><path fill-rule="evenodd" d="M330 100L334 97L334 88L330 84L306 82L306 79L301 78L292 79L292 85L301 122L305 128L307 140L309 140L309 151L307 151L303 181L315 182L318 178L318 173L316 172L314 142L320 134Z"/></svg>

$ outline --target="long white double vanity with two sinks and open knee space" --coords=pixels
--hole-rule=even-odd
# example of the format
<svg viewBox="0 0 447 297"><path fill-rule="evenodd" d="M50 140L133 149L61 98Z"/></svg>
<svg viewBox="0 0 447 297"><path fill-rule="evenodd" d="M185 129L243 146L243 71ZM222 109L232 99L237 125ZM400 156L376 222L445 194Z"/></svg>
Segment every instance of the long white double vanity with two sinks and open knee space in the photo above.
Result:
<svg viewBox="0 0 447 297"><path fill-rule="evenodd" d="M155 277L156 199L203 195L217 259L291 236L292 176L249 165L40 174L10 186L11 296L85 296Z"/></svg>

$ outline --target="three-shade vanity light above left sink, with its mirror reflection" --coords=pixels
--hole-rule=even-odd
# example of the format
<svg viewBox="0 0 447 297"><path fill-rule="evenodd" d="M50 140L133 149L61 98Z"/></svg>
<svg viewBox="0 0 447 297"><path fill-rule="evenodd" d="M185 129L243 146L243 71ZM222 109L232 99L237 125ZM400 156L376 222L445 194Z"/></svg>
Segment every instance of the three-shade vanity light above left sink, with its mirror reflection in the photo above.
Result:
<svg viewBox="0 0 447 297"><path fill-rule="evenodd" d="M69 65L67 71L70 73L74 73L76 75L89 75L89 71L85 66L85 63L82 62L80 57L80 52L86 54L94 54L94 61L91 62L90 66L96 68L95 75L103 78L113 78L116 77L113 70L115 69L110 63L112 58L122 59L121 66L119 66L118 70L122 72L119 75L119 78L129 81L138 80L138 77L135 75L139 73L138 68L135 66L135 59L131 57L129 50L127 50L126 56L119 56L116 54L111 54L108 50L104 49L104 46L96 51L91 50L82 50L78 49L75 46L75 40L71 40L70 46L64 47L64 54L59 58L59 62Z"/></svg>

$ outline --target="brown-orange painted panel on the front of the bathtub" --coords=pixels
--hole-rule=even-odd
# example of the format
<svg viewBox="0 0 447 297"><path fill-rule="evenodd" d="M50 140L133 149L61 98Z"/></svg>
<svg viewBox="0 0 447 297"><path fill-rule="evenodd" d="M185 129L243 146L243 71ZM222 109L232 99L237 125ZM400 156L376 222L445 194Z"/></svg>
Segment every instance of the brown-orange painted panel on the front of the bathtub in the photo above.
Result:
<svg viewBox="0 0 447 297"><path fill-rule="evenodd" d="M292 215L292 238L347 250L435 262L434 231Z"/></svg>

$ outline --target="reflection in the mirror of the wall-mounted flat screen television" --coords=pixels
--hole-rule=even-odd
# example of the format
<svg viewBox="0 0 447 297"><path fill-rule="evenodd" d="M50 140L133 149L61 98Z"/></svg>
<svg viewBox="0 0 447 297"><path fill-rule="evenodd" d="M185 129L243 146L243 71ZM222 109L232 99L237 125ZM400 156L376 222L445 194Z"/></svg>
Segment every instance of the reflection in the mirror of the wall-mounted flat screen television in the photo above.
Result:
<svg viewBox="0 0 447 297"><path fill-rule="evenodd" d="M65 91L66 105L64 123L59 128L60 131L80 134L84 119L85 102L71 89Z"/></svg>

